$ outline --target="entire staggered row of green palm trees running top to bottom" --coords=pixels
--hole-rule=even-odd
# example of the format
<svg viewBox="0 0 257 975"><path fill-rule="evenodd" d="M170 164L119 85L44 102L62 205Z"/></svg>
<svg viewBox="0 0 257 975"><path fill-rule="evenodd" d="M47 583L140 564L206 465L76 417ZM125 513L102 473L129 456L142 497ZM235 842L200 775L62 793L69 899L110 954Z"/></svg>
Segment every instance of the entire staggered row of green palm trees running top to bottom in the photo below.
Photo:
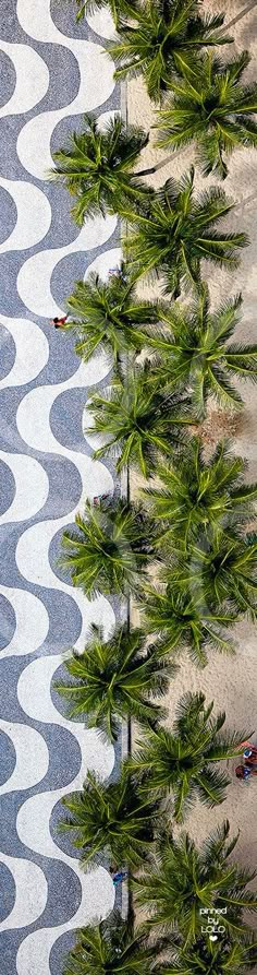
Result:
<svg viewBox="0 0 257 975"><path fill-rule="evenodd" d="M76 2L78 19L106 5ZM115 78L142 74L159 105L157 144L194 144L204 175L224 179L231 152L257 143L257 85L242 81L247 52L223 63L213 51L232 39L223 15L203 15L197 0L109 5L117 37L107 52ZM119 781L88 773L83 789L64 798L60 824L85 866L103 855L128 868L138 924L132 912L126 922L114 913L78 931L64 975L238 975L257 962L244 915L257 908L248 889L255 871L231 860L237 836L229 839L228 822L200 847L187 833L175 839L174 824L196 799L210 808L223 801L230 776L220 763L242 754L253 728L224 727L225 713L213 715L201 691L182 697L172 728L162 722L181 651L199 667L211 649L233 653L228 630L238 616L257 615L257 485L229 443L208 457L201 443L210 399L238 411L238 381L257 378L257 345L233 341L242 296L211 310L203 259L234 269L248 239L220 230L233 201L220 187L197 194L194 167L180 181L149 187L147 176L162 164L138 168L148 138L118 114L105 128L87 115L83 131L53 154L51 173L75 199L79 226L115 213L124 227L121 269L108 282L90 274L75 283L68 329L83 360L103 347L112 367L109 387L87 404L95 456L143 478L139 500L128 491L87 501L62 539L60 561L75 586L91 599L133 595L140 613L137 629L128 614L108 640L93 627L56 685L71 716L111 741L122 721L133 721L139 736ZM143 275L161 281L163 298L138 297ZM185 292L189 300L178 300Z"/></svg>

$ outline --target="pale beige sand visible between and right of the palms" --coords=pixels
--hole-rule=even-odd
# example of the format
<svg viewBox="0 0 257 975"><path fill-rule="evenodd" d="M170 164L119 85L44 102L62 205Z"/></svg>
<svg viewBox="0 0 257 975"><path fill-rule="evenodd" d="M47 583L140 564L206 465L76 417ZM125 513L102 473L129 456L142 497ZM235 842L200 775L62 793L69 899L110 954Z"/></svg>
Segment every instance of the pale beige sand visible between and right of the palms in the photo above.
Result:
<svg viewBox="0 0 257 975"><path fill-rule="evenodd" d="M227 22L244 10L246 3L238 0L231 2L204 3L204 9L217 12L225 9ZM248 49L254 61L247 69L248 79L256 73L257 49L257 7L231 28L235 38L234 45L221 48L221 56L229 56L242 49ZM140 80L133 80L128 85L128 120L143 124L150 129L155 124L155 112L147 97L144 84ZM150 142L144 150L140 159L144 166L155 165L168 153L161 153L155 148L155 130L151 130ZM170 176L180 176L188 169L193 151L186 148L180 154L171 155L168 164L155 176L149 177L152 186L158 187ZM208 281L212 305L225 296L233 296L238 290L243 292L243 318L237 330L238 338L254 341L256 336L256 237L257 237L257 154L253 150L238 150L232 156L229 164L230 173L224 182L228 195L236 201L237 209L227 219L227 227L246 230L250 245L242 251L242 261L237 271L228 274L224 271L215 270L210 265L203 266L203 276ZM209 177L203 179L196 171L196 188L206 189L213 185L216 179ZM158 288L159 290L159 288ZM140 284L140 293L149 296L149 283ZM155 294L155 292L151 293ZM257 478L257 388L250 383L241 383L241 392L245 399L245 408L240 419L231 423L228 417L221 417L216 427L212 420L209 427L213 431L218 429L218 438L224 432L235 432L233 450L235 453L247 457L249 479ZM135 485L136 486L136 485ZM138 621L137 615L134 617ZM185 691L203 690L207 702L215 701L215 711L225 710L227 725L231 728L248 728L254 730L253 741L257 741L257 628L247 620L240 621L234 630L237 651L235 656L222 656L213 651L209 652L209 663L204 670L198 670L189 657L184 654L181 657L181 666L176 678L170 685L166 704L169 709L168 725L172 725L174 706L179 698ZM138 737L135 735L135 737ZM234 775L236 762L230 762L232 783L228 789L228 798L213 810L206 809L196 804L192 813L186 818L185 827L195 840L200 841L224 818L229 818L231 832L240 830L236 856L243 864L257 868L257 780L250 784L241 783ZM256 884L255 884L256 885Z"/></svg>

